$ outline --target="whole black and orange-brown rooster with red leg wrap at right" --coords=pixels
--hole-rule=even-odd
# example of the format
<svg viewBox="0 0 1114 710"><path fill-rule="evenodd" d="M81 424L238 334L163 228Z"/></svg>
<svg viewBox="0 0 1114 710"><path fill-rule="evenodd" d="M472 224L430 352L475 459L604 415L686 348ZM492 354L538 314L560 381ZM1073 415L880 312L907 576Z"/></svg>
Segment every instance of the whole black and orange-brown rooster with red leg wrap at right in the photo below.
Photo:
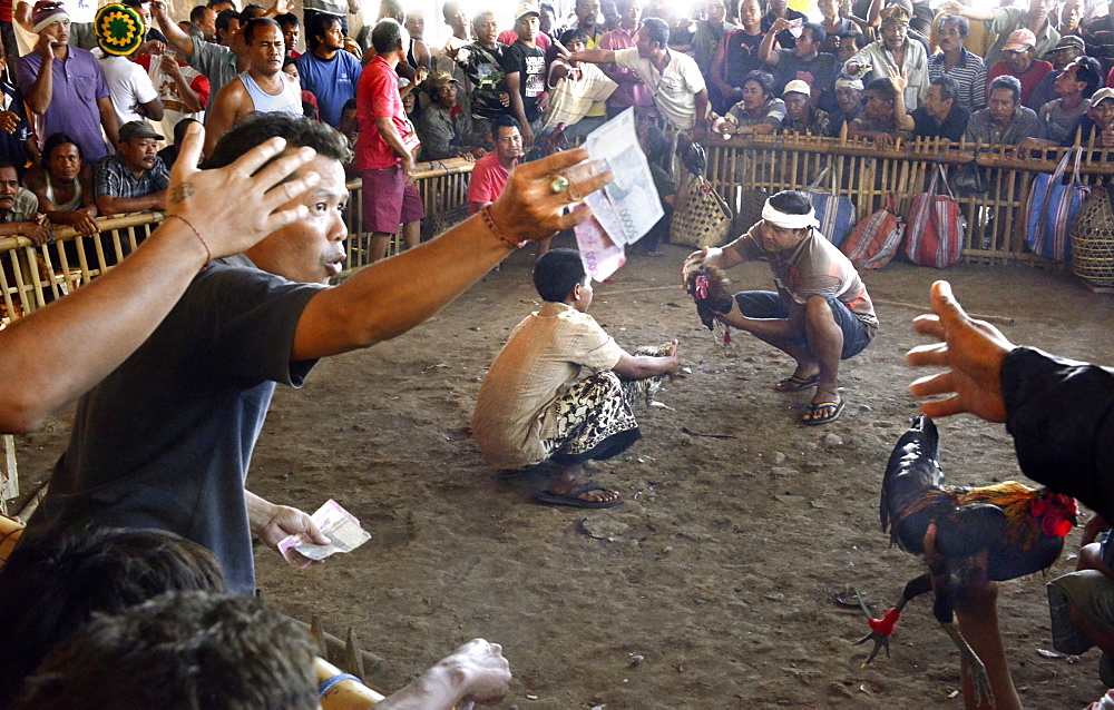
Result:
<svg viewBox="0 0 1114 710"><path fill-rule="evenodd" d="M1007 481L967 489L944 483L937 458L939 433L927 416L918 416L893 453L882 479L882 531L890 544L924 554L925 533L936 523L937 579L932 613L973 669L976 690L990 696L986 669L952 620L965 589L987 581L1004 582L1051 566L1064 550L1064 536L1075 526L1075 499ZM942 580L942 584L941 584ZM882 619L869 619L871 631L856 642L874 642L867 667L886 647L901 610L912 599L932 591L932 574L911 580L901 601Z"/></svg>

